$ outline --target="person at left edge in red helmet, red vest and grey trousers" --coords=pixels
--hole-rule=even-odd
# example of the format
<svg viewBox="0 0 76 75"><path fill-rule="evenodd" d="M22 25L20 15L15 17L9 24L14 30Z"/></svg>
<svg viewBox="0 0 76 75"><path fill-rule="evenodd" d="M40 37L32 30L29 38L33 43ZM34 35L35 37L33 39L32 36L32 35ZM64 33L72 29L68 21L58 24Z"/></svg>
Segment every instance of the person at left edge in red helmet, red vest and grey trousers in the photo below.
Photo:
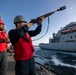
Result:
<svg viewBox="0 0 76 75"><path fill-rule="evenodd" d="M7 42L9 42L8 35L4 31L4 23L0 19L0 75L6 75L7 70Z"/></svg>

